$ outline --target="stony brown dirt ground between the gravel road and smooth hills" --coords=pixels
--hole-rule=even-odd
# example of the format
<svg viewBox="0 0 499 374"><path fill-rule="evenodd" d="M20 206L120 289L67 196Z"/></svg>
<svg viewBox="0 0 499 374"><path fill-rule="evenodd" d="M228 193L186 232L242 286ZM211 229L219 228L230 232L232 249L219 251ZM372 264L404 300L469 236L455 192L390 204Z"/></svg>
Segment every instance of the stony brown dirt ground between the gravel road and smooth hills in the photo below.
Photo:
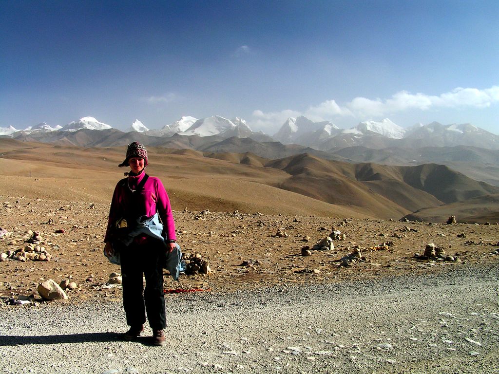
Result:
<svg viewBox="0 0 499 374"><path fill-rule="evenodd" d="M24 248L31 230L39 233L38 245L52 256L49 261L0 262L0 295L4 300L31 294L38 298L38 284L49 278L57 283L63 279L76 282L77 288L67 291L67 302L94 297L120 300L121 289L106 285L110 273L120 272L119 266L109 263L102 253L108 204L6 195L0 198L0 227L6 230L0 239L0 253ZM334 283L441 272L499 260L496 222L429 224L182 210L174 211L174 217L182 251L208 260L211 274L181 275L179 282L166 276L165 288L170 290L231 292L288 283ZM317 244L333 227L345 234L345 240L334 240L334 250L311 250L310 256L302 255L304 246ZM276 237L279 228L288 236ZM424 253L428 243L441 246L455 261L415 257ZM354 248L360 249L364 261L342 261Z"/></svg>

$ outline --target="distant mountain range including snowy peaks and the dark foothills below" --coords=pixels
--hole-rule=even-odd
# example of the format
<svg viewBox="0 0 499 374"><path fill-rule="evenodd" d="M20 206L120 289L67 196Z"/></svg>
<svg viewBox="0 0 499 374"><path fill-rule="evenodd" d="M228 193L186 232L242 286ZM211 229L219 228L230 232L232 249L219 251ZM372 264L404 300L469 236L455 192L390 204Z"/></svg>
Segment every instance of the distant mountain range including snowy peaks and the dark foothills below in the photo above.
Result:
<svg viewBox="0 0 499 374"><path fill-rule="evenodd" d="M146 146L201 152L251 152L266 159L308 153L350 163L439 163L477 181L499 186L498 136L470 124L433 122L404 129L385 119L361 122L345 130L330 122L297 117L286 120L272 138L251 131L241 118L182 117L159 130L148 130L135 120L128 132L122 132L93 117L84 117L64 127L40 123L21 131L3 128L0 134L22 141L80 147L114 147L139 141Z"/></svg>

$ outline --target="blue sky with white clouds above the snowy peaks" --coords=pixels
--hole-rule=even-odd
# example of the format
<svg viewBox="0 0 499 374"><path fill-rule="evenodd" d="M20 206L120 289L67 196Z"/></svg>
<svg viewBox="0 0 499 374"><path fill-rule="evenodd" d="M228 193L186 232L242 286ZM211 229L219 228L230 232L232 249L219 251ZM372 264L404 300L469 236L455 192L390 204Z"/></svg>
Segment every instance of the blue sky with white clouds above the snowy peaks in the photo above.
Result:
<svg viewBox="0 0 499 374"><path fill-rule="evenodd" d="M0 127L305 115L499 134L498 1L0 1Z"/></svg>

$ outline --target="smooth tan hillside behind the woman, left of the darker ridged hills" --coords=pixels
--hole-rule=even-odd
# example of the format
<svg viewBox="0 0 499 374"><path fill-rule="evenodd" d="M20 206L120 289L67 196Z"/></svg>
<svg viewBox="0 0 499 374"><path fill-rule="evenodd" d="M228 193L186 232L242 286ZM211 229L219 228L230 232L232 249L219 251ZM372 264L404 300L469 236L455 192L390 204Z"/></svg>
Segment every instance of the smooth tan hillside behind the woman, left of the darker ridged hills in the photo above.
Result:
<svg viewBox="0 0 499 374"><path fill-rule="evenodd" d="M61 147L8 141L0 157L0 190L11 196L108 202L122 178L125 147ZM29 148L26 147L29 145ZM148 147L148 173L160 177L174 209L240 210L269 214L366 217L348 207L272 187L284 172ZM242 157L244 159L247 156Z"/></svg>

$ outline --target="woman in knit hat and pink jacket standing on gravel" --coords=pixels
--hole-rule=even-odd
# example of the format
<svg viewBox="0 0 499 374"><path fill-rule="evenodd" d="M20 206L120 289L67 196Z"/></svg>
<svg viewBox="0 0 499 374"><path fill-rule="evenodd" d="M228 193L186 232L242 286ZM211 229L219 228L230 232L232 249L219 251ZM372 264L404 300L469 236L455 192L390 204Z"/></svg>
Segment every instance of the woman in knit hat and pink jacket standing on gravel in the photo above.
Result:
<svg viewBox="0 0 499 374"><path fill-rule="evenodd" d="M175 242L170 199L161 180L145 173L147 165L146 148L137 142L128 145L119 167L129 166L130 172L114 189L104 251L119 252L123 307L130 326L124 339L140 336L147 312L153 343L161 346L166 327L163 265L168 252L180 253L180 248Z"/></svg>

